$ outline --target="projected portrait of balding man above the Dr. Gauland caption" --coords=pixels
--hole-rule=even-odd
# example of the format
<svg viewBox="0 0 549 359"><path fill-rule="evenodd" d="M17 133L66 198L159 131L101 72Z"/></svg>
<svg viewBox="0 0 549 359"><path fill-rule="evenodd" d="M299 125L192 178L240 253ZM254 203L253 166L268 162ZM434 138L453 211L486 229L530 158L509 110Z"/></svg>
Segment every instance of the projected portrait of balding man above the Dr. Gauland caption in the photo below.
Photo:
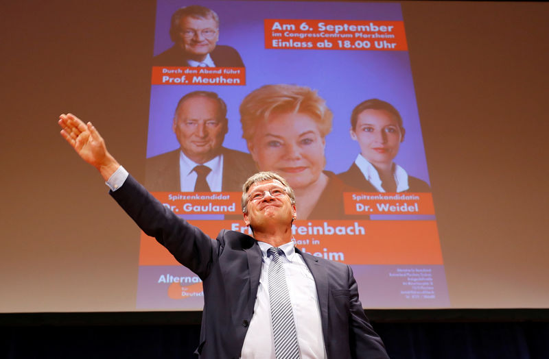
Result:
<svg viewBox="0 0 549 359"><path fill-rule="evenodd" d="M145 185L152 191L240 192L256 172L248 153L223 147L228 128L225 102L210 91L178 101L172 130L179 148L149 158Z"/></svg>

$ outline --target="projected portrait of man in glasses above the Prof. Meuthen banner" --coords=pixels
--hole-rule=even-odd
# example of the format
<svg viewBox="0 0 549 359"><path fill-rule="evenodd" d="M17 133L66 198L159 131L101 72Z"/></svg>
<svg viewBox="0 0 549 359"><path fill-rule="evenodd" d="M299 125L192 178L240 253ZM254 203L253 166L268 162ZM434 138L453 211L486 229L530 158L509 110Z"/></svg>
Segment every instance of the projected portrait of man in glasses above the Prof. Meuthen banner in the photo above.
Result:
<svg viewBox="0 0 549 359"><path fill-rule="evenodd" d="M219 16L200 5L180 8L172 15L170 38L174 46L153 59L154 66L244 67L240 54L217 45Z"/></svg>

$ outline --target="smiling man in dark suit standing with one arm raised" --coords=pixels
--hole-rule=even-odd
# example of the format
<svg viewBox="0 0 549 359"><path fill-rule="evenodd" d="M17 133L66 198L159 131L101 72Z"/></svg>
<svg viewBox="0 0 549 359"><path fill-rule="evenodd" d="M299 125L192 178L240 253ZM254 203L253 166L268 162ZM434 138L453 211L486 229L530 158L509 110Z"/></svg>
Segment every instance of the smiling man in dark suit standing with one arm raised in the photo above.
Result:
<svg viewBox="0 0 549 359"><path fill-rule="evenodd" d="M294 247L295 195L282 177L262 172L244 184L242 211L253 237L223 230L213 240L139 185L91 123L62 114L59 125L141 230L202 279L201 358L388 358L351 267Z"/></svg>

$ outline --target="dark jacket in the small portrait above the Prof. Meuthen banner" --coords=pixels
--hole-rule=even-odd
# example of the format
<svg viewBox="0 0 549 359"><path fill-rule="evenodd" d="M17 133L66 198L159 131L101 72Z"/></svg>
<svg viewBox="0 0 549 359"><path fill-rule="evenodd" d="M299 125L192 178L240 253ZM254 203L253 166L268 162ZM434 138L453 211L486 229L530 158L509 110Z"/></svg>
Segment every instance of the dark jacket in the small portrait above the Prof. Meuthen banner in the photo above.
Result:
<svg viewBox="0 0 549 359"><path fill-rule="evenodd" d="M230 46L216 45L210 53L216 67L244 67L238 51ZM180 47L174 45L163 53L154 56L152 66L189 66L189 55Z"/></svg>

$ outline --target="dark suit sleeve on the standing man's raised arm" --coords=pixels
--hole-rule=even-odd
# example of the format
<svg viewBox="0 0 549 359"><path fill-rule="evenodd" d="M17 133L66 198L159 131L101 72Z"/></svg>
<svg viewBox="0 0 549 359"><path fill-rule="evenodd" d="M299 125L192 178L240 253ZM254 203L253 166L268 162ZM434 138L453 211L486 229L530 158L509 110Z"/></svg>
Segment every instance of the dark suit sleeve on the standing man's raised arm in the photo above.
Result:
<svg viewBox="0 0 549 359"><path fill-rule="evenodd" d="M124 185L109 193L145 234L156 238L178 262L202 280L207 277L212 262L218 258L218 240L212 240L200 229L176 216L131 175Z"/></svg>

